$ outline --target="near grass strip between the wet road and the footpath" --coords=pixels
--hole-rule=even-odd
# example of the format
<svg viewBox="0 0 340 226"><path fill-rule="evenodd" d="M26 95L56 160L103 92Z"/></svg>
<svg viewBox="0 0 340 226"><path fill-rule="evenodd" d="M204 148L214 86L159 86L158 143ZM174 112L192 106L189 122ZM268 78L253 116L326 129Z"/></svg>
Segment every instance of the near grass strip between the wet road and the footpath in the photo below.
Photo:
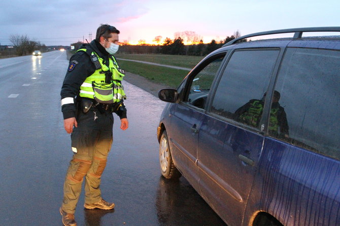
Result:
<svg viewBox="0 0 340 226"><path fill-rule="evenodd" d="M173 88L177 88L189 72L187 70L125 60L118 60L118 64L121 68L128 72L139 74L140 76L143 76L153 82L165 84Z"/></svg>

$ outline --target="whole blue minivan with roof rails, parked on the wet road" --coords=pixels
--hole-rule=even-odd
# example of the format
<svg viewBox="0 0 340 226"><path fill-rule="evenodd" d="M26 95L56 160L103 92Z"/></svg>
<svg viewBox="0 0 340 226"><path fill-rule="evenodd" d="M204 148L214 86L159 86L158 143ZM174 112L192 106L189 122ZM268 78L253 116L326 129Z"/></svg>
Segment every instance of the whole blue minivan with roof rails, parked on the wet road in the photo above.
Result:
<svg viewBox="0 0 340 226"><path fill-rule="evenodd" d="M340 37L329 32L340 27L242 36L160 90L162 175L183 175L228 226L340 225ZM249 41L282 33L292 37Z"/></svg>

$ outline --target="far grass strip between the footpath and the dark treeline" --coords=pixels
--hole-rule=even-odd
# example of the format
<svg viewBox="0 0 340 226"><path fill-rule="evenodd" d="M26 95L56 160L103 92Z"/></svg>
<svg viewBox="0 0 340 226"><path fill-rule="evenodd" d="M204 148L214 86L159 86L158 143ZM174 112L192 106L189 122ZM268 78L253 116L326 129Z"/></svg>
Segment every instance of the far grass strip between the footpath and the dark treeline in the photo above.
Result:
<svg viewBox="0 0 340 226"><path fill-rule="evenodd" d="M193 68L199 61L201 61L204 58L202 56L183 56L165 54L124 54L124 53L116 54L115 57L186 68ZM122 60L120 62L122 62ZM127 69L127 71L129 70Z"/></svg>

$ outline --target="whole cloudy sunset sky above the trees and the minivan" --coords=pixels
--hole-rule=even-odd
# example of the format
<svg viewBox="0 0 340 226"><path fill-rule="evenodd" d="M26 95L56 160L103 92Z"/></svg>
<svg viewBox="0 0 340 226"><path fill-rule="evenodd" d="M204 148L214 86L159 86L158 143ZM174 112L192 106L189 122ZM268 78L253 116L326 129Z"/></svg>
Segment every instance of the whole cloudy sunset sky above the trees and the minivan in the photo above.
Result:
<svg viewBox="0 0 340 226"><path fill-rule="evenodd" d="M0 44L24 34L46 46L95 38L101 23L121 31L120 41L152 43L194 31L203 42L294 27L340 26L340 1L299 0L2 0ZM91 34L91 35L90 35Z"/></svg>

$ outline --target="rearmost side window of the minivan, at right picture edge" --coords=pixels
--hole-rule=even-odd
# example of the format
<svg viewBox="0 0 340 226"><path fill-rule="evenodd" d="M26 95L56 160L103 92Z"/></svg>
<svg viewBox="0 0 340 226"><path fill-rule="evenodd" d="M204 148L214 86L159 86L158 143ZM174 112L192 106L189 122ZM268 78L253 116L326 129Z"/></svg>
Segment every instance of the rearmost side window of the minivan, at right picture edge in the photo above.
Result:
<svg viewBox="0 0 340 226"><path fill-rule="evenodd" d="M340 159L339 62L340 51L287 49L275 88L280 104L273 100L271 107L278 109L270 116L271 136ZM289 127L278 118L282 111Z"/></svg>

